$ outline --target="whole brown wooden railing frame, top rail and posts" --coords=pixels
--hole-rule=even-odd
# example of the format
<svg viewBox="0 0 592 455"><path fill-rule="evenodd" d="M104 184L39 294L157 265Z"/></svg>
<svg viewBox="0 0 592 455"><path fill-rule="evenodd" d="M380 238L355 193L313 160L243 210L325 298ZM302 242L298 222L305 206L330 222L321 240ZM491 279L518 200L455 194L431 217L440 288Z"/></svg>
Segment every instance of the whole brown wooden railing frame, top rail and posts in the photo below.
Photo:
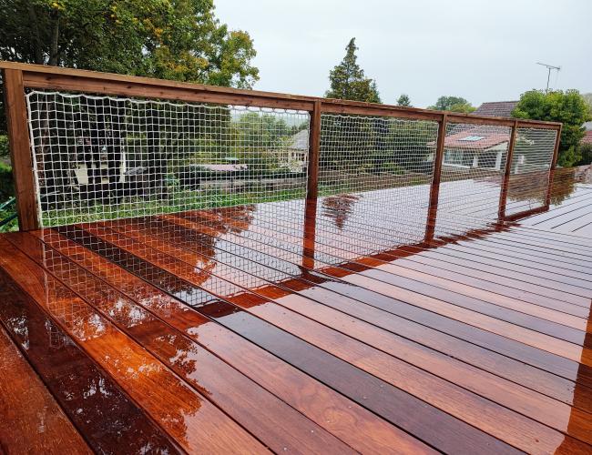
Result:
<svg viewBox="0 0 592 455"><path fill-rule="evenodd" d="M307 111L311 115L309 141L309 167L307 202L310 210L315 209L319 190L319 155L321 147L322 114L342 114L356 116L383 116L413 120L429 120L438 123L438 137L434 151L434 175L431 183L426 239L434 237L434 227L439 201L439 190L444 161L444 139L446 126L450 124L469 124L505 126L511 129L507 148L505 169L499 197L499 220L506 220L526 213L505 215L506 200L515 148L516 133L519 128L544 128L556 131L554 155L549 168L546 207L549 204L553 170L556 166L561 124L535 120L518 120L492 116L475 116L452 112L440 112L413 107L388 106L315 96L293 96L280 93L239 90L228 87L205 86L175 81L151 79L138 76L121 76L93 71L60 68L54 66L35 66L0 62L3 70L5 107L8 120L10 154L13 164L16 192L16 208L21 230L40 227L36 202L36 182L32 147L27 126L26 89L63 90L110 96L136 96L179 100L196 103L221 105L260 106ZM541 208L536 208L540 210ZM543 207L544 209L544 207Z"/></svg>

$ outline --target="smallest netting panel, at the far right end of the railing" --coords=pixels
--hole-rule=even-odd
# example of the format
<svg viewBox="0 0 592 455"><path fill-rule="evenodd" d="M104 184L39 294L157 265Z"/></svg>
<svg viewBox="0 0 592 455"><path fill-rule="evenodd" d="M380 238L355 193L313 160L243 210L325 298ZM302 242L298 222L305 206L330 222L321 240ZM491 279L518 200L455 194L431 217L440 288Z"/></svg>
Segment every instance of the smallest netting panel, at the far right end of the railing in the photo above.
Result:
<svg viewBox="0 0 592 455"><path fill-rule="evenodd" d="M545 205L555 143L555 129L518 128L506 215L515 215Z"/></svg>

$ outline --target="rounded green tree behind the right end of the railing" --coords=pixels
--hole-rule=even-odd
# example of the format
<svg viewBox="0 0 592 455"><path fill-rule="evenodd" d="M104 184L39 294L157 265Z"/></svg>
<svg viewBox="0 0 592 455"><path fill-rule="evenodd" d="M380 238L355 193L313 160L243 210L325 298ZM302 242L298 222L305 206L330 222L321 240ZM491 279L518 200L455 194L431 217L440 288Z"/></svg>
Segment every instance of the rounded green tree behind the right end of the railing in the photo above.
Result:
<svg viewBox="0 0 592 455"><path fill-rule="evenodd" d="M530 90L520 96L512 116L561 122L563 129L557 163L570 167L581 160L580 141L585 135L582 125L590 119L590 110L577 90L556 90L548 94L542 90Z"/></svg>

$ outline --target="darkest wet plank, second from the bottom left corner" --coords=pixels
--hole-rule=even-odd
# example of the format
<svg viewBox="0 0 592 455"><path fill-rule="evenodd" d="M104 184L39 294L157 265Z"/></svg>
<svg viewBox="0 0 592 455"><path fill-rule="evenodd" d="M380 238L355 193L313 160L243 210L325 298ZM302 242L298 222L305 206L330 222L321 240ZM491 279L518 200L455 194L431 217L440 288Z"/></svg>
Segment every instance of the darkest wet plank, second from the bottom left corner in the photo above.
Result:
<svg viewBox="0 0 592 455"><path fill-rule="evenodd" d="M125 445L133 452L148 447L179 452L166 433L2 269L0 301L0 321L93 450L114 453Z"/></svg>

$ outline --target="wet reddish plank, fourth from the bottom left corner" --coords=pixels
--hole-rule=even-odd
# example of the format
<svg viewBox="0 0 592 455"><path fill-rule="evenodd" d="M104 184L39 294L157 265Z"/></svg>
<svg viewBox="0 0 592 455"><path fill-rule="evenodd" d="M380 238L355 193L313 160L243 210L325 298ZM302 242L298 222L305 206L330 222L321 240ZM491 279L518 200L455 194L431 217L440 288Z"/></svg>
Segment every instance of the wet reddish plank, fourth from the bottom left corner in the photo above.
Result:
<svg viewBox="0 0 592 455"><path fill-rule="evenodd" d="M27 235L8 238L271 450L351 449L136 302ZM260 412L260 408L266 412Z"/></svg>

